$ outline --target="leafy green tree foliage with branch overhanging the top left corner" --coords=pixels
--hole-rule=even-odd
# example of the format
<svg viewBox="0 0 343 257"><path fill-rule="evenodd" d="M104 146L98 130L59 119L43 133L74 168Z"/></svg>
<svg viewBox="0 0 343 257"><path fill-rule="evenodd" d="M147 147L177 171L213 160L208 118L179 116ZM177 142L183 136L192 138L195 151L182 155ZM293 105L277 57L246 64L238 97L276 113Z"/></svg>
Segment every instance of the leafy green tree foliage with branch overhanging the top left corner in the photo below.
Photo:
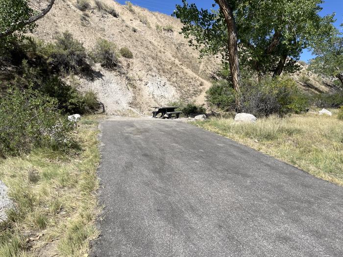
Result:
<svg viewBox="0 0 343 257"><path fill-rule="evenodd" d="M21 39L24 33L34 28L36 21L51 10L55 0L45 0L42 3L0 0L0 41Z"/></svg>

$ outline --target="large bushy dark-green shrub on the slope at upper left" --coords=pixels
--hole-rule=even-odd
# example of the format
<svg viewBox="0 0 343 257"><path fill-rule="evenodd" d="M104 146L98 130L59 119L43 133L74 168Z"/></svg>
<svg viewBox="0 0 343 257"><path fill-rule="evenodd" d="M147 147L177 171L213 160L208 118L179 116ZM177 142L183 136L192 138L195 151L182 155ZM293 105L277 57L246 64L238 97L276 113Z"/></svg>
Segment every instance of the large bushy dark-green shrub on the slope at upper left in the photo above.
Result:
<svg viewBox="0 0 343 257"><path fill-rule="evenodd" d="M59 72L89 73L91 70L87 62L86 49L82 43L73 39L68 31L56 37L55 44L44 48L44 53L50 59L53 70Z"/></svg>

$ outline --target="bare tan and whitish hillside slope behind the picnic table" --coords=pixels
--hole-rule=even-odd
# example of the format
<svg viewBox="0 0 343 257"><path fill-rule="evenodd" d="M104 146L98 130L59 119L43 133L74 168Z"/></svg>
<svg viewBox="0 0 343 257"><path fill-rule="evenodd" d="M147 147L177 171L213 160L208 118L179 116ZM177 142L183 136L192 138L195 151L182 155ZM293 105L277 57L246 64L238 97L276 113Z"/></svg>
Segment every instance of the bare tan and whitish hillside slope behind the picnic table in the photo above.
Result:
<svg viewBox="0 0 343 257"><path fill-rule="evenodd" d="M204 101L204 92L210 86L209 74L218 66L218 60L199 60L198 52L178 33L182 24L177 19L138 6L130 11L113 0L102 2L114 8L119 18L99 11L93 0L92 8L85 12L76 8L76 0L57 0L33 32L51 42L58 33L68 30L88 50L104 38L118 49L128 47L133 52L133 59L121 58L121 72L96 65L99 77L94 81L79 78L79 89L98 93L109 114L126 109L147 112L152 106L177 99ZM158 30L156 25L168 25L172 31Z"/></svg>

